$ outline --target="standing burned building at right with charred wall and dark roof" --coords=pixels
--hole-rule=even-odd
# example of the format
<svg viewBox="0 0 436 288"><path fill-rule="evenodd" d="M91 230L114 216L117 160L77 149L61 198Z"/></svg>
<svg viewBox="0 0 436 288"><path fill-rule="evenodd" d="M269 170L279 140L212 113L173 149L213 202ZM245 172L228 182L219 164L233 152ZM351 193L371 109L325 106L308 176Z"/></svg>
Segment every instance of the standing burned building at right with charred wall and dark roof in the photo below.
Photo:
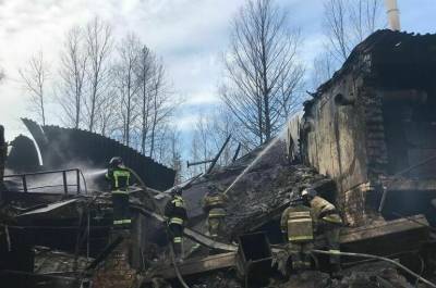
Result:
<svg viewBox="0 0 436 288"><path fill-rule="evenodd" d="M378 30L304 104L304 163L331 177L353 226L436 198L436 35Z"/></svg>

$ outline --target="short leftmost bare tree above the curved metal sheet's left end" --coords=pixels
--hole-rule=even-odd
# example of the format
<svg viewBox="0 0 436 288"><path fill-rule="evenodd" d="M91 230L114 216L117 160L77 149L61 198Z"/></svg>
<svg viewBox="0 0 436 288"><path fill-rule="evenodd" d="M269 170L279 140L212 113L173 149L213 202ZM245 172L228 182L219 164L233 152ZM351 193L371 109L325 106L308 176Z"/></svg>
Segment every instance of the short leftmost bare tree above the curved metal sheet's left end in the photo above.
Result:
<svg viewBox="0 0 436 288"><path fill-rule="evenodd" d="M24 88L31 96L31 109L35 111L43 125L46 125L46 85L49 77L48 64L44 61L43 52L33 55L28 66L19 70Z"/></svg>

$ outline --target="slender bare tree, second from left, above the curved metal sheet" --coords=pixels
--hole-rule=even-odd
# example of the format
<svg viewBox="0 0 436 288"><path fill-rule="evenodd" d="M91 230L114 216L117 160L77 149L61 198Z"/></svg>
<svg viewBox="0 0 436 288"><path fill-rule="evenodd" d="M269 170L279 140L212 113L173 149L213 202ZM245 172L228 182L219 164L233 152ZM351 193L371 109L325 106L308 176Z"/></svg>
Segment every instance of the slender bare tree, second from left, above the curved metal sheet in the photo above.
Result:
<svg viewBox="0 0 436 288"><path fill-rule="evenodd" d="M66 34L61 53L60 90L58 101L61 104L68 125L78 128L82 124L83 95L88 55L84 47L84 35L80 27L73 27Z"/></svg>

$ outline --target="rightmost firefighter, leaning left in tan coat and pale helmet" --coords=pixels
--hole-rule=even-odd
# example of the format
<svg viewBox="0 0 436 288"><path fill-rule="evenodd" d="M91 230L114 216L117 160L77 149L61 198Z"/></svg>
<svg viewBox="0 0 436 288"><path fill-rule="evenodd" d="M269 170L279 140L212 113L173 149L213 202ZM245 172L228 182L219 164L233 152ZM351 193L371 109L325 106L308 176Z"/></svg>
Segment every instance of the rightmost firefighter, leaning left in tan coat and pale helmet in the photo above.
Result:
<svg viewBox="0 0 436 288"><path fill-rule="evenodd" d="M336 206L326 199L317 196L316 190L312 188L304 189L301 192L304 202L312 208L315 229L317 234L326 237L327 246L330 252L339 252L339 236L342 218ZM330 255L331 272L334 274L340 271L340 256Z"/></svg>

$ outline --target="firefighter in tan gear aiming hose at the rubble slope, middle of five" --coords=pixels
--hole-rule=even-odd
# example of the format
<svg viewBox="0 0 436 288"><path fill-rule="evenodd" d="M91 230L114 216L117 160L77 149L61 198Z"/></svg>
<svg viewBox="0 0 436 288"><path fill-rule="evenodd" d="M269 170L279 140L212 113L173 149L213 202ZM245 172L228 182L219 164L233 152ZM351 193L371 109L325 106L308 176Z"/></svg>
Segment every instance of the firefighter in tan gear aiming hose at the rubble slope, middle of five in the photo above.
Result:
<svg viewBox="0 0 436 288"><path fill-rule="evenodd" d="M223 195L215 185L209 185L208 191L203 199L203 211L207 214L207 228L211 238L222 235L227 196Z"/></svg>

